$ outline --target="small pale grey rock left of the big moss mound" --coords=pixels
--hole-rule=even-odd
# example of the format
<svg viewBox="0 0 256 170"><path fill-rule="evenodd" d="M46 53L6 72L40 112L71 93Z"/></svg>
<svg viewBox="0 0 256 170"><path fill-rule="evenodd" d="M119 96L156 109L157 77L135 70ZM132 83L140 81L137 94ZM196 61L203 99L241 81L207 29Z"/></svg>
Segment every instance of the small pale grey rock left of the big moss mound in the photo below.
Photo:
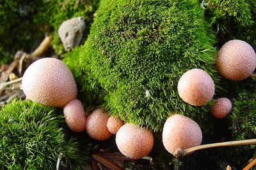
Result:
<svg viewBox="0 0 256 170"><path fill-rule="evenodd" d="M58 29L58 34L66 51L72 50L79 45L84 31L85 23L83 17L76 17L64 21Z"/></svg>

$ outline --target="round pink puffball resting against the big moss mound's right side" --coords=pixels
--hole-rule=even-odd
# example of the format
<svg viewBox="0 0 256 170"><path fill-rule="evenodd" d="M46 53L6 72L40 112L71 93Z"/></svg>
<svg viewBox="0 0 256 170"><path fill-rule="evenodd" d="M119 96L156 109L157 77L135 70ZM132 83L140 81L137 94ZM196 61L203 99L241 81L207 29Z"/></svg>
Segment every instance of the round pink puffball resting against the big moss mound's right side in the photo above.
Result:
<svg viewBox="0 0 256 170"><path fill-rule="evenodd" d="M180 77L178 93L186 103L202 106L214 95L214 82L202 69L191 69Z"/></svg>

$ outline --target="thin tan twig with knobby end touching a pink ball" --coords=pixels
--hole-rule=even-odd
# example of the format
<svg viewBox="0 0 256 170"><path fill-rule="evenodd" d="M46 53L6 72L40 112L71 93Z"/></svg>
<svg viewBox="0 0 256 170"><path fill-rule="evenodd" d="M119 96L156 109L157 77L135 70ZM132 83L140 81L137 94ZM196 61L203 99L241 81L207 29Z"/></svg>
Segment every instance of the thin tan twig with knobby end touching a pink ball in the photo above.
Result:
<svg viewBox="0 0 256 170"><path fill-rule="evenodd" d="M173 155L175 157L182 157L182 156L189 155L189 154L195 152L196 150L203 150L206 148L215 148L215 147L221 147L221 146L250 145L250 144L256 145L256 139L247 139L247 140L242 140L242 141L227 141L227 142L221 142L221 143L211 143L211 144L206 144L206 145L194 146L191 148L187 148L185 150L182 150L182 148L178 148Z"/></svg>

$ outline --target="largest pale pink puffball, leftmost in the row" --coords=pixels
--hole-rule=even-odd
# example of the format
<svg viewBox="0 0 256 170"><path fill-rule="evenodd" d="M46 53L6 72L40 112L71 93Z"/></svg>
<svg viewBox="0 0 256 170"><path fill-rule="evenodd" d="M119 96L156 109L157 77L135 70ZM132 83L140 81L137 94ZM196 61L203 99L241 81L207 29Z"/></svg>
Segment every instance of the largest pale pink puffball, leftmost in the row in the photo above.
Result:
<svg viewBox="0 0 256 170"><path fill-rule="evenodd" d="M36 103L63 108L76 99L77 87L70 69L54 58L33 62L22 78L24 94Z"/></svg>

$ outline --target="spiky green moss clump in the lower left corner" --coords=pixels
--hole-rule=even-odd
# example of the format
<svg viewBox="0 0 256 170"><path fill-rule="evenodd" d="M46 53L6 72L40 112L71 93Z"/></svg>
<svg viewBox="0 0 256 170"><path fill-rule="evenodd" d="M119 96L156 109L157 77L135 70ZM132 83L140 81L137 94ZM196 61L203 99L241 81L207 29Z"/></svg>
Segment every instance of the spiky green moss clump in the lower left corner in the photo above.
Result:
<svg viewBox="0 0 256 170"><path fill-rule="evenodd" d="M63 115L31 101L13 101L0 111L1 169L54 169L60 153L74 168L86 159L74 139L65 142Z"/></svg>

